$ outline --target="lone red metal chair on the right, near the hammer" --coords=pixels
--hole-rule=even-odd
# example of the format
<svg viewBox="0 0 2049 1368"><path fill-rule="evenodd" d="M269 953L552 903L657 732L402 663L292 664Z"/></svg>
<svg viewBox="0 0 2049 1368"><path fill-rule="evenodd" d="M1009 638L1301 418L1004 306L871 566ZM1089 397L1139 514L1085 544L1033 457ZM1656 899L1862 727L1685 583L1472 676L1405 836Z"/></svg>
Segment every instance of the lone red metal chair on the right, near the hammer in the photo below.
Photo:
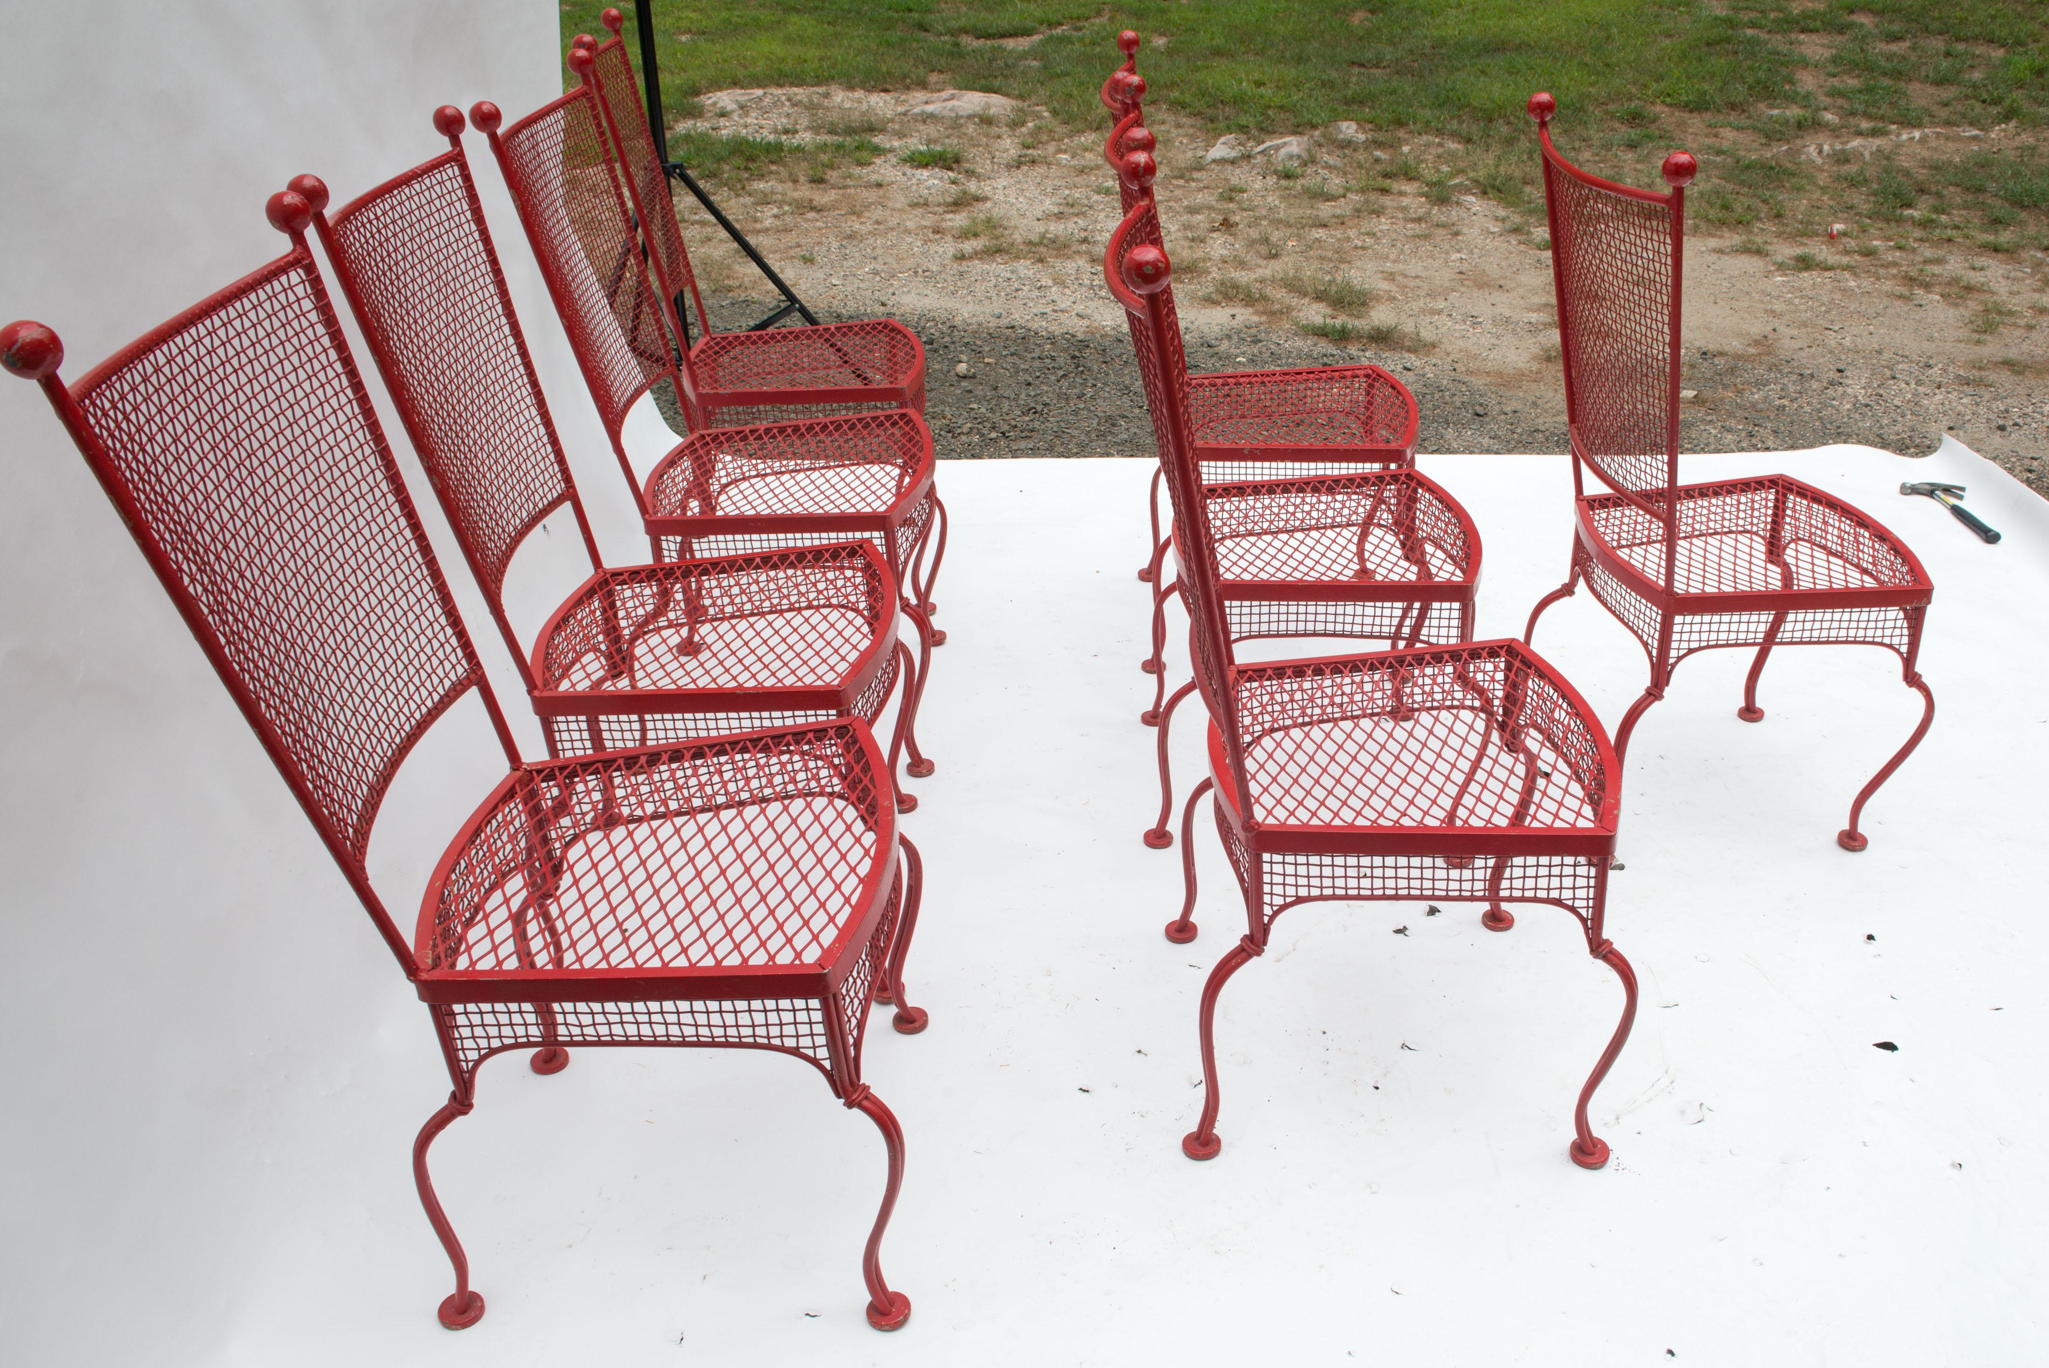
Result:
<svg viewBox="0 0 2049 1368"><path fill-rule="evenodd" d="M1836 833L1844 850L1863 850L1865 803L1934 721L1934 694L1916 670L1934 586L1877 518L1789 475L1678 481L1680 248L1695 160L1666 158L1670 195L1588 176L1551 145L1555 109L1549 94L1529 100L1551 215L1578 535L1565 584L1537 602L1522 639L1584 578L1594 600L1643 643L1651 682L1615 731L1617 756L1627 756L1637 721L1695 651L1756 647L1736 711L1746 723L1764 719L1758 676L1774 645L1895 651L1924 709ZM1588 494L1586 471L1608 494Z"/></svg>

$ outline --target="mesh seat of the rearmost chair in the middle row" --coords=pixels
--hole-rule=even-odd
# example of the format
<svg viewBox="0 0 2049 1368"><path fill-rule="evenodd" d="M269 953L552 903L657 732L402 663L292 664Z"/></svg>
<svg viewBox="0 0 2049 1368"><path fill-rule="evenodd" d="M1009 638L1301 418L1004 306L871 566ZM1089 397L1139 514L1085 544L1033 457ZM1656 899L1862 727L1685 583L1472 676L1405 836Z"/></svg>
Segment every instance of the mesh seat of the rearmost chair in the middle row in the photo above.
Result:
<svg viewBox="0 0 2049 1368"><path fill-rule="evenodd" d="M1406 461L1416 442L1416 399L1379 367L1188 375L1188 418L1197 448L1387 446Z"/></svg>

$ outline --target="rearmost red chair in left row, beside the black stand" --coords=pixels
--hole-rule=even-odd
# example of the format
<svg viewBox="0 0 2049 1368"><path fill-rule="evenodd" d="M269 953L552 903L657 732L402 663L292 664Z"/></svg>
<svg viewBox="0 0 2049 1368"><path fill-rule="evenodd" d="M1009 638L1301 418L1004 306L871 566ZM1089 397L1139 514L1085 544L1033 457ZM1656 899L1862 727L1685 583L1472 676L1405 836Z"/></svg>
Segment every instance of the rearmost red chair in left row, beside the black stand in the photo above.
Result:
<svg viewBox="0 0 2049 1368"><path fill-rule="evenodd" d="M654 279L684 358L701 371L699 403L709 426L746 426L772 418L856 414L879 408L924 412L924 344L893 317L852 324L805 324L760 332L713 332L682 244L676 201L647 133L647 106L619 37L625 18L604 10L613 37L578 35L570 70L598 100L607 152L619 168L647 244ZM682 299L697 309L699 338L682 326Z"/></svg>

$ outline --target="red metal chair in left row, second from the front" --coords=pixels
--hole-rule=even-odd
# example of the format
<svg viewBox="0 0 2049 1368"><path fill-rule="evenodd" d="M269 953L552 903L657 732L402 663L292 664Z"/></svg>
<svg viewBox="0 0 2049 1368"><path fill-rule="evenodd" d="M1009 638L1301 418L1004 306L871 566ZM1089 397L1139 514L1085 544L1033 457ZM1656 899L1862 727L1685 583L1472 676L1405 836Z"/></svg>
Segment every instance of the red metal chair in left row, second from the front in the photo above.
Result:
<svg viewBox="0 0 2049 1368"><path fill-rule="evenodd" d="M449 152L330 219L328 186L291 190L371 344L406 432L547 733L551 756L629 750L859 715L875 723L910 647L873 543L607 569L463 156L463 113L434 111ZM512 557L563 504L592 575L520 645L504 606ZM902 747L889 747L891 774ZM897 811L916 799L897 793Z"/></svg>

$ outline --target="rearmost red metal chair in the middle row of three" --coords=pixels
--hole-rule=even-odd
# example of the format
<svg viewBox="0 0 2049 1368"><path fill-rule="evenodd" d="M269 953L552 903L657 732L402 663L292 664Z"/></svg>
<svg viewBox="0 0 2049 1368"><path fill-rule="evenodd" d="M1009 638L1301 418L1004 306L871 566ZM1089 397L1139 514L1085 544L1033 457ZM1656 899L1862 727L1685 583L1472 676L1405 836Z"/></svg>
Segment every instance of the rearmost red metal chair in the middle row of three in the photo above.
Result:
<svg viewBox="0 0 2049 1368"><path fill-rule="evenodd" d="M1137 74L1139 35L1117 35L1123 66L1102 82L1102 106L1115 119L1102 141L1102 158L1119 172L1117 188L1125 213L1139 190L1125 182L1123 164L1133 152L1154 154L1156 139L1145 127L1145 78ZM1158 233L1158 225L1154 227ZM1164 248L1164 242L1154 242ZM1168 293L1166 311L1174 317ZM1137 336L1133 334L1133 344ZM1283 475L1338 475L1416 465L1416 397L1381 367L1297 367L1287 371L1211 371L1186 375L1195 448L1205 483L1238 479L1279 479ZM1281 465L1283 469L1272 469ZM1139 580L1160 584L1166 537L1160 524L1160 471L1147 496L1152 512L1152 555ZM1158 612L1166 590L1154 596ZM1145 670L1158 670L1147 657Z"/></svg>

